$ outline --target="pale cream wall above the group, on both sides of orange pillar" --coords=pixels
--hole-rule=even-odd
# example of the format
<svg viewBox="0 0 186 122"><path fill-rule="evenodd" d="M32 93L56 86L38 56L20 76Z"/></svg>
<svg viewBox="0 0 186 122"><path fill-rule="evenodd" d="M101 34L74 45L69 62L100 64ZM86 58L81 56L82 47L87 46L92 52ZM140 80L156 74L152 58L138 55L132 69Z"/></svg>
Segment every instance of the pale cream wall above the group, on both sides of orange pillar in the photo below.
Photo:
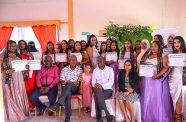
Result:
<svg viewBox="0 0 186 122"><path fill-rule="evenodd" d="M67 5L67 0L0 0L0 21L67 20ZM85 39L83 31L97 35L109 21L156 23L186 35L185 5L185 0L74 0L74 39ZM68 25L61 25L61 39L68 39Z"/></svg>

